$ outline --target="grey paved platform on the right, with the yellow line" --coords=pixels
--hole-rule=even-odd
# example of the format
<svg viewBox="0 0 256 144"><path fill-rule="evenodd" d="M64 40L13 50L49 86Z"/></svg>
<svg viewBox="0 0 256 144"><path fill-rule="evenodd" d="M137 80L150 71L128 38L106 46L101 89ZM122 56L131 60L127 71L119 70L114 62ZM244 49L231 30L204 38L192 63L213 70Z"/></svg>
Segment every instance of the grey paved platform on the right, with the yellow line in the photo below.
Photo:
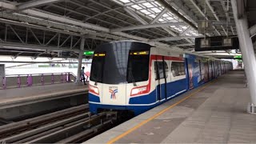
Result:
<svg viewBox="0 0 256 144"><path fill-rule="evenodd" d="M256 142L256 115L243 71L213 82L138 115L86 143Z"/></svg>

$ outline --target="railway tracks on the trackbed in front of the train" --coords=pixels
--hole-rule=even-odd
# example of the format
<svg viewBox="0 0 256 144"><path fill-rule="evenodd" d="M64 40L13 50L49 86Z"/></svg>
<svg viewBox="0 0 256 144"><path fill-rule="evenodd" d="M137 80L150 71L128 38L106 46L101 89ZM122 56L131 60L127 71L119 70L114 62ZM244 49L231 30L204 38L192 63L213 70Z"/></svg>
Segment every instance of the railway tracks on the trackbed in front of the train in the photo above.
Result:
<svg viewBox="0 0 256 144"><path fill-rule="evenodd" d="M90 115L88 104L0 126L0 143L83 142L113 126L117 114Z"/></svg>

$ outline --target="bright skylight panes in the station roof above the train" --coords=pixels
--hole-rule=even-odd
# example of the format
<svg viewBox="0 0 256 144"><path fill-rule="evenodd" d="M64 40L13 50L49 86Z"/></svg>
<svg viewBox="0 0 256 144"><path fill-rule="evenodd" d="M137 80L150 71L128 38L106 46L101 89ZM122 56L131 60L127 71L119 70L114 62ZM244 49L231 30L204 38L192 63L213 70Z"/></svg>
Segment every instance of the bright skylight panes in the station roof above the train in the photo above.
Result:
<svg viewBox="0 0 256 144"><path fill-rule="evenodd" d="M118 2L119 4L126 6L142 15L145 15L148 18L154 19L158 14L162 12L164 9L158 2L152 0L112 0L114 2ZM181 20L172 14L170 11L167 11L162 15L161 18L158 19L159 23L165 22L181 22ZM171 30L176 31L177 33L182 33L182 31L186 30L189 26L170 26ZM184 34L186 36L198 36L198 30L190 29Z"/></svg>

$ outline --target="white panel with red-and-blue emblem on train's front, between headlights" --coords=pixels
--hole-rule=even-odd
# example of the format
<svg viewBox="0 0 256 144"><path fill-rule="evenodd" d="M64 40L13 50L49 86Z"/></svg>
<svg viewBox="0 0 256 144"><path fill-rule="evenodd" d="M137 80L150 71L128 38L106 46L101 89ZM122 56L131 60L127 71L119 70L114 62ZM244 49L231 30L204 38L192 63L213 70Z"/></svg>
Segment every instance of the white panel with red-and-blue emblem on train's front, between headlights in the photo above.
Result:
<svg viewBox="0 0 256 144"><path fill-rule="evenodd" d="M126 86L104 85L102 90L102 103L109 105L126 105Z"/></svg>

